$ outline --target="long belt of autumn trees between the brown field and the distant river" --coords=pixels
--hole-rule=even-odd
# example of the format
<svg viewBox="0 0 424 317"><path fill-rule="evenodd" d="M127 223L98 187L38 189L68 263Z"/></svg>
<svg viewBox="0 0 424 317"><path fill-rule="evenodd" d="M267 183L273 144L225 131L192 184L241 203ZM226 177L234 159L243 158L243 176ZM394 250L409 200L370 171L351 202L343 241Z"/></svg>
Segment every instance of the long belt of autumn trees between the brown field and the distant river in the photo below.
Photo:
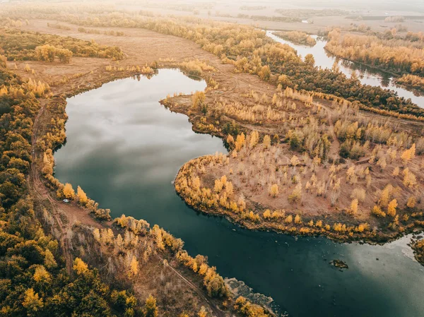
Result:
<svg viewBox="0 0 424 317"><path fill-rule="evenodd" d="M120 15L119 15L120 16ZM121 26L125 28L147 28L164 34L194 40L203 49L220 57L225 63L233 64L239 71L257 74L261 79L283 87L297 90L324 92L359 102L362 109L379 114L419 118L424 110L411 100L398 97L396 92L377 86L363 85L356 78L348 78L337 70L314 66L314 60L305 61L295 51L273 42L262 30L245 25L228 25L199 18L177 20L149 19L143 16L127 16L122 20L116 13L92 18L63 16L61 20L83 26ZM192 23L203 23L199 28Z"/></svg>

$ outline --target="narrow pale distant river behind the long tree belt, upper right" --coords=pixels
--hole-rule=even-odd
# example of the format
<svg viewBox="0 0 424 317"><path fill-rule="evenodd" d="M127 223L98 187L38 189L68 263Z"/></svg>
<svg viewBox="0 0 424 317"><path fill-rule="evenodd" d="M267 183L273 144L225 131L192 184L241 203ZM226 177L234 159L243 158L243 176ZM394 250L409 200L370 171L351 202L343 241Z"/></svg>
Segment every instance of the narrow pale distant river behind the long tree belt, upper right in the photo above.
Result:
<svg viewBox="0 0 424 317"><path fill-rule="evenodd" d="M325 40L322 40L317 36L312 36L315 40L317 40L317 44L315 44L314 47L308 47L305 45L293 44L292 42L283 40L280 37L273 35L272 32L274 31L266 31L266 35L271 37L273 40L276 40L276 42L290 45L290 47L293 47L296 51L298 51L298 54L302 57L305 57L307 54L312 54L314 56L316 66L321 66L322 68L331 68L334 64L334 61L337 61L340 71L347 76L350 77L352 72L356 71L358 74L358 79L361 83L372 86L382 86L382 88L394 90L397 92L399 97L405 97L406 99L411 98L412 102L418 104L419 107L424 108L423 92L418 92L417 90L408 90L399 85L396 85L396 83L394 83L393 77L389 73L384 73L382 71L377 71L375 68L336 58L336 56L325 51Z"/></svg>

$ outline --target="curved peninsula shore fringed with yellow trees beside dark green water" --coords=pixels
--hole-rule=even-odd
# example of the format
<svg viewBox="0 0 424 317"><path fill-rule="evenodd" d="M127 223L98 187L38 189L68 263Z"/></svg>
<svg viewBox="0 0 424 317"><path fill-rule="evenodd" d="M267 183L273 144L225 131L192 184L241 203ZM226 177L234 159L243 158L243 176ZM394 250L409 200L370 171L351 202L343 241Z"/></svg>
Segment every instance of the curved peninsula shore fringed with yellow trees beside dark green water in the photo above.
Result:
<svg viewBox="0 0 424 317"><path fill-rule="evenodd" d="M422 212L418 213L415 219L411 218L412 221L409 224L406 222L402 223L401 225L404 225L404 227L399 231L390 231L387 229L377 231L371 229L370 225L366 223L354 225L351 222L343 224L340 222L341 219L300 216L303 214L301 209L297 214L283 213L283 215L281 214L281 210L268 210L269 216L266 216L266 208L260 203L247 202L247 205L256 206L254 209L243 208L240 210L240 204L238 210L235 208L226 208L225 204L222 205L220 202L212 202L208 201L207 198L206 200L202 198L203 193L206 193L204 189L201 189L202 193L199 192L197 195L189 189L190 184L187 179L190 179L192 175L196 174L196 167L199 165L208 165L213 160L215 160L214 157L199 157L187 162L186 165L179 169L175 179L175 189L185 203L194 208L194 210L199 210L208 215L226 217L230 222L247 229L300 236L322 236L339 242L357 241L384 244L399 239L411 232L416 232L416 230L422 230L424 227ZM273 213L277 214L273 215ZM290 217L290 222L287 221L288 217ZM301 220L296 221L296 217L300 217ZM346 220L346 217L343 218Z"/></svg>

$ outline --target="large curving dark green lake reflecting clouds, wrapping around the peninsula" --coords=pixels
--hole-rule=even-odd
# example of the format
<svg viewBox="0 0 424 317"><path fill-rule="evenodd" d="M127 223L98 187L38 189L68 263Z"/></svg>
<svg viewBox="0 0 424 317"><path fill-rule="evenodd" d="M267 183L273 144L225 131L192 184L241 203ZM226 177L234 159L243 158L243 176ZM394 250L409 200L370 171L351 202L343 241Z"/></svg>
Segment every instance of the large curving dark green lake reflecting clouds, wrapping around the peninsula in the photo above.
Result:
<svg viewBox="0 0 424 317"><path fill-rule="evenodd" d="M56 176L80 185L113 216L164 227L189 253L208 256L221 275L273 297L290 316L424 316L424 270L408 238L369 246L251 232L198 214L179 199L171 184L179 167L225 148L218 138L194 133L187 116L158 100L205 87L179 71L160 70L150 80L117 80L70 98ZM334 258L349 269L329 265Z"/></svg>

